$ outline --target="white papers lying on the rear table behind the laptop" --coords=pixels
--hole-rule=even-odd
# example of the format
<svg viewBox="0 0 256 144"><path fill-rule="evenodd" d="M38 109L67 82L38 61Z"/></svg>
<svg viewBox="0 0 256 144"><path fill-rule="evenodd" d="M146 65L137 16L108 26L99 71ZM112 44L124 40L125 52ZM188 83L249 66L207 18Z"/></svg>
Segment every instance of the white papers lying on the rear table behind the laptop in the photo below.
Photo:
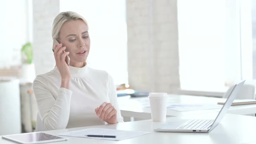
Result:
<svg viewBox="0 0 256 144"><path fill-rule="evenodd" d="M174 111L201 111L201 110L209 110L209 109L221 109L223 105L195 105L195 104L174 104L168 105L167 109L171 109Z"/></svg>

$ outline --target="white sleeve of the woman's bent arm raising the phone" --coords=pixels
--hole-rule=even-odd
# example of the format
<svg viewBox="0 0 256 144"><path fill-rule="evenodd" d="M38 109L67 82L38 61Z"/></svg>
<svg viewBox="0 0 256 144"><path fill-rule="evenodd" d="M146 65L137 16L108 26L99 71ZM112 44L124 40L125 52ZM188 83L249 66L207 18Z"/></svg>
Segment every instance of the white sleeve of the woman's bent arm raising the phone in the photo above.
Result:
<svg viewBox="0 0 256 144"><path fill-rule="evenodd" d="M59 88L56 96L49 90L47 81L41 76L33 82L33 90L38 106L38 115L46 130L66 128L69 121L72 91Z"/></svg>

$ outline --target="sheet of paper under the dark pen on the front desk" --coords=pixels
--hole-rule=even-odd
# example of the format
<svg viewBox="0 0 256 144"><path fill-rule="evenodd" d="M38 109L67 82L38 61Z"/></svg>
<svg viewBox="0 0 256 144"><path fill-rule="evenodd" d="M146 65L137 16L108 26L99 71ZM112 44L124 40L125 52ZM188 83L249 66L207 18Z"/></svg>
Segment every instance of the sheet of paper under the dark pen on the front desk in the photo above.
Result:
<svg viewBox="0 0 256 144"><path fill-rule="evenodd" d="M121 131L121 130L105 129L105 128L87 128L87 129L78 130L78 131L70 131L70 132L59 134L59 135L70 136L70 137L86 137L86 138L120 141L120 140L125 140L128 138L132 138L132 137L138 137L138 136L144 135L144 134L149 134L149 133L151 133L151 132ZM86 135L115 135L116 138L87 137Z"/></svg>

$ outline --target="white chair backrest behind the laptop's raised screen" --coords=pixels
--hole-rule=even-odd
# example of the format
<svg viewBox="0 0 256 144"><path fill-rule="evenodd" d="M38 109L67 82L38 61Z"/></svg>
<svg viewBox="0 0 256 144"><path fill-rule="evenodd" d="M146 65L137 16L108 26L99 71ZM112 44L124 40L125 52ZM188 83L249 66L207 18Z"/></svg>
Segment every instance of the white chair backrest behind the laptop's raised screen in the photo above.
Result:
<svg viewBox="0 0 256 144"><path fill-rule="evenodd" d="M228 97L228 95L230 94L233 87L234 87L234 85L231 86L226 91L226 93L223 95L223 98ZM236 99L255 99L254 91L255 91L255 86L254 85L244 84L243 88L240 90L240 92L236 96Z"/></svg>

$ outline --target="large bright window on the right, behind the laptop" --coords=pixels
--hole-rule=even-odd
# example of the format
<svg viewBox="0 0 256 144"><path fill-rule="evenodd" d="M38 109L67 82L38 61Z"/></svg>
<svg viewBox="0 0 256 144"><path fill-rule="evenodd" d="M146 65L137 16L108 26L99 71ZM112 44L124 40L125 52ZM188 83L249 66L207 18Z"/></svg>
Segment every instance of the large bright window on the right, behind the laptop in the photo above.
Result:
<svg viewBox="0 0 256 144"><path fill-rule="evenodd" d="M177 10L182 90L225 92L256 78L255 1L178 0Z"/></svg>

